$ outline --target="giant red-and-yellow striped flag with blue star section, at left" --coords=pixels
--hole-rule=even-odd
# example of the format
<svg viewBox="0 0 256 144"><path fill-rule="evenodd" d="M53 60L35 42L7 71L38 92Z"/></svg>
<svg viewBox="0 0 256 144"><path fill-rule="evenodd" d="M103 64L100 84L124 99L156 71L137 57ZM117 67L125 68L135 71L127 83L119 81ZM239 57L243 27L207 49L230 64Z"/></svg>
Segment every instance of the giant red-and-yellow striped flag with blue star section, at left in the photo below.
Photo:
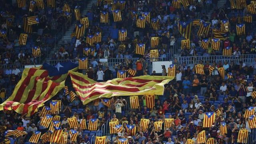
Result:
<svg viewBox="0 0 256 144"><path fill-rule="evenodd" d="M73 62L60 62L55 66L44 63L38 68L25 68L12 95L0 104L0 110L33 115L64 88L68 71L77 70L77 67L78 64Z"/></svg>

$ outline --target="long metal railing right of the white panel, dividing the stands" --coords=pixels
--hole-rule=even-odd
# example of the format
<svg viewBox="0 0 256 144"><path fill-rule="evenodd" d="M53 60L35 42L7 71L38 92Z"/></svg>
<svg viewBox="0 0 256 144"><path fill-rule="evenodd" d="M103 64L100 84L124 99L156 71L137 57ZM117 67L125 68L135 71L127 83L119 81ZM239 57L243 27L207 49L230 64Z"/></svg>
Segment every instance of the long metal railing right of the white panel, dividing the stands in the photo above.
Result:
<svg viewBox="0 0 256 144"><path fill-rule="evenodd" d="M234 62L235 64L237 64L242 61L246 64L252 64L252 62L254 62L254 58L256 58L256 54L244 54L241 56L177 56L176 58L180 64L185 62L187 65L199 64L201 60L203 63L206 63L207 61L209 61L210 63L224 63L225 61L227 61L228 63Z"/></svg>

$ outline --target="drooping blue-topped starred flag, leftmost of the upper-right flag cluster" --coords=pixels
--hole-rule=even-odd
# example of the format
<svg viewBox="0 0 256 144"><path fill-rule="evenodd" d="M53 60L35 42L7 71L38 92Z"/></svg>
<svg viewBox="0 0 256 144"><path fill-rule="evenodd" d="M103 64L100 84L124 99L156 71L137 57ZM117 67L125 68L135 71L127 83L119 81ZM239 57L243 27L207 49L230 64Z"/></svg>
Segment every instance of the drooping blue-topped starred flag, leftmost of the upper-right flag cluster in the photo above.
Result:
<svg viewBox="0 0 256 144"><path fill-rule="evenodd" d="M192 22L178 22L178 30L182 36L186 39L190 39Z"/></svg>

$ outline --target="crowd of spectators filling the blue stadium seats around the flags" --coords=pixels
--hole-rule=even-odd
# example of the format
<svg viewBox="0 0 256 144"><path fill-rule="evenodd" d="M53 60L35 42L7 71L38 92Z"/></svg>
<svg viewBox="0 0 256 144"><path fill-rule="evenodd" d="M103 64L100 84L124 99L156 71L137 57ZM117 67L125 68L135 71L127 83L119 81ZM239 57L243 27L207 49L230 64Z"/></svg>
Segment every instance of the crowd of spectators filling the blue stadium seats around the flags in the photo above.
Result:
<svg viewBox="0 0 256 144"><path fill-rule="evenodd" d="M77 1L73 0L66 2L70 4L71 8L79 8L83 4L79 4L79 1L75 3ZM86 44L84 38L78 40L72 38L70 44L60 46L58 53L53 55L52 60L78 59L84 55L83 48L89 47L95 49L94 53L88 55L91 60L90 68L86 73L91 79L104 82L116 78L118 70L133 69L134 66L129 58L140 58L136 62L136 76L154 76L156 75L155 72L152 74L148 72L146 62L150 57L149 50L155 49L150 47L151 37L161 37L160 44L157 46L160 53L159 57L169 60L170 49L176 48L173 47L174 43L177 43L181 38L177 28L178 20L202 19L211 22L212 27L220 28L220 20L226 19L226 17L230 21L230 30L228 37L221 42L220 50L212 50L211 47L206 50L202 49L200 47L202 40L211 36L212 33L209 32L208 36L204 34L197 36L199 26L195 25L191 29L190 49L183 49L181 55L222 55L222 49L228 46L232 47L232 54L238 57L243 54L256 54L255 22L245 22L246 35L238 36L235 32L235 24L244 22L242 17L248 15L246 9L231 10L229 0L222 8L217 7L218 0L189 2L190 5L186 8L176 9L172 5L172 0L126 0L125 9L122 11L122 21L114 22L111 4L102 0L98 5L93 4L92 10L84 16L88 17L90 23L85 36L95 32L102 32L104 35L105 32L109 34L106 40L103 39L102 42L90 46ZM249 1L246 2L250 4ZM0 39L0 97L3 102L10 96L10 94L6 94L6 90L14 90L20 79L21 71L16 65L33 63L31 52L28 49L23 51L23 47L19 46L18 43L18 36L23 32L21 28L23 16L26 14L29 16L38 14L40 16L40 24L33 26L33 32L37 33L30 34L29 38L31 38L30 42L42 47L46 43L44 41L46 38L52 38L58 32L58 27L64 25L64 29L66 29L70 22L60 12L65 3L61 0L56 0L56 8L38 8L29 13L28 3L23 8L17 7L16 0L2 0L2 3L5 5L1 6L1 30L7 32L6 38ZM213 8L210 18L204 14L206 6ZM109 23L100 23L100 12L102 11L110 12ZM132 11L136 11L138 15L141 15L142 12L150 12L151 18L159 18L160 30L153 30L148 22L146 22L145 28L136 27L136 17L131 16ZM11 15L15 16L15 22L12 26L7 26L6 18ZM109 30L106 31L106 28ZM118 41L118 30L120 29L127 29L128 32L128 36L122 42ZM162 35L166 30L170 33L170 38L167 35ZM137 42L146 44L144 55L134 54ZM43 50L42 54L44 52L46 50ZM96 60L98 58L126 59L123 63L116 64L115 71L112 71L108 66L98 62ZM192 139L196 143L198 133L202 130L206 130L206 136L214 138L216 144L237 144L239 130L246 129L249 133L251 132L248 124L249 117L244 117L244 114L248 108L255 106L255 99L251 94L256 90L256 60L252 65L242 61L239 64L234 62L230 64L227 62L224 64L211 61L200 62L204 65L205 75L196 74L196 70L186 66L186 62L179 62L177 59L174 59L173 62L176 66L176 78L165 85L164 95L155 96L155 105L152 109L146 106L143 96L139 96L138 108L131 109L127 96L110 99L110 106L103 104L104 99L99 101L98 106L94 106L94 102L83 105L78 98L70 102L70 95L61 91L53 98L53 100L61 100L61 111L52 113L52 116L60 116L60 127L66 132L71 131L67 118L76 117L78 122L86 119L87 124L91 119L98 118L98 129L100 130L103 124L108 126L108 119L115 121L117 118L123 128L121 131L116 131L115 134L110 135L109 141L114 144L118 143L119 138L127 138L129 144L186 144L187 139ZM6 66L5 70L3 69L4 66ZM211 74L209 73L209 66L214 67ZM225 77L222 79L218 72L220 67L224 68L226 74L231 72L232 78ZM167 76L165 66L162 68L162 76ZM127 76L132 75L127 73ZM50 102L45 103L45 106L50 106ZM40 131L42 134L46 133L48 128L40 125L40 120L42 120L40 111L41 108L38 113L27 117L26 114L3 110L0 142L3 144L23 144L29 141L35 131ZM206 112L216 112L216 120L210 128L204 128L202 124ZM150 120L145 131L142 131L140 126L140 120L143 118ZM158 128L154 127L154 122L164 121L165 118L174 118L169 128L164 128L164 123ZM224 134L220 130L222 122L226 122L227 127L227 133ZM135 135L126 129L127 124L136 126ZM5 136L7 130L21 130L26 134L19 137ZM67 144L90 144L92 136L96 134L95 131L82 130L82 128L76 130L78 131L76 141L70 141L70 136L68 136ZM44 142L39 140L38 143Z"/></svg>

